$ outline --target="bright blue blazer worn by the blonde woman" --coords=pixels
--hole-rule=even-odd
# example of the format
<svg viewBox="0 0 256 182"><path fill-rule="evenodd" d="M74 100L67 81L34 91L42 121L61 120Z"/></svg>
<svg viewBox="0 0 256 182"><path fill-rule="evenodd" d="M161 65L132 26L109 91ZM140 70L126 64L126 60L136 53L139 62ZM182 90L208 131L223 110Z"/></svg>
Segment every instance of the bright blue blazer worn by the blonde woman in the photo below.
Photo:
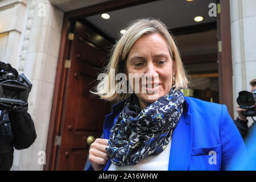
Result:
<svg viewBox="0 0 256 182"><path fill-rule="evenodd" d="M106 115L104 138L109 139L126 100ZM243 139L225 105L185 97L183 113L172 134L168 170L223 170L245 152ZM106 164L108 170L111 162ZM90 166L87 170L93 170ZM152 169L154 171L154 169Z"/></svg>

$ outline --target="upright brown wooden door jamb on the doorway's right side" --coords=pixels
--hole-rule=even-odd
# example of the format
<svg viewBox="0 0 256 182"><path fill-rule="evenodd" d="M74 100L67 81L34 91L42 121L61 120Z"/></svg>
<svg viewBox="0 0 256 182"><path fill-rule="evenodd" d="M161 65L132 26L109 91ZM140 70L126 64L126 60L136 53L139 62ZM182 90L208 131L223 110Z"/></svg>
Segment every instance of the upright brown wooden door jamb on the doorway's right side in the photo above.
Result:
<svg viewBox="0 0 256 182"><path fill-rule="evenodd" d="M233 118L233 71L229 0L220 0L218 2L217 39L220 104L225 104L228 107L229 114Z"/></svg>

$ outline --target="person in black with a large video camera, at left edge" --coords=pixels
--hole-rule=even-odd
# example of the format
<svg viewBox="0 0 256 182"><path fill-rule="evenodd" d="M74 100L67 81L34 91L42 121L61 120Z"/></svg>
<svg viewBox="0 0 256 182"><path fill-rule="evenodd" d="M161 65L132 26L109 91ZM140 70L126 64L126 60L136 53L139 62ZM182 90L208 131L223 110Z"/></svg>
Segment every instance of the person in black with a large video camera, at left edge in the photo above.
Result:
<svg viewBox="0 0 256 182"><path fill-rule="evenodd" d="M0 61L0 171L13 165L13 147L28 148L36 139L34 122L27 113L31 87L23 74Z"/></svg>

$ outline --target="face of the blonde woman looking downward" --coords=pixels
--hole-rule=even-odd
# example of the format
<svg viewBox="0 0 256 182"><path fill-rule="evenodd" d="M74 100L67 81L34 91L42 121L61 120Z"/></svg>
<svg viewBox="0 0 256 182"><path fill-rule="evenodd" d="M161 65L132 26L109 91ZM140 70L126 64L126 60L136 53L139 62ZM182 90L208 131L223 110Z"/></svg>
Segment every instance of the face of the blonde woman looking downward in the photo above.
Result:
<svg viewBox="0 0 256 182"><path fill-rule="evenodd" d="M134 92L141 109L168 94L172 87L172 59L166 40L160 34L143 35L139 38L131 47L126 68L128 74L138 73L147 77L146 83L143 79L139 81L139 92ZM128 79L134 89L135 81L131 84L130 77ZM142 92L142 89L146 89L146 92Z"/></svg>

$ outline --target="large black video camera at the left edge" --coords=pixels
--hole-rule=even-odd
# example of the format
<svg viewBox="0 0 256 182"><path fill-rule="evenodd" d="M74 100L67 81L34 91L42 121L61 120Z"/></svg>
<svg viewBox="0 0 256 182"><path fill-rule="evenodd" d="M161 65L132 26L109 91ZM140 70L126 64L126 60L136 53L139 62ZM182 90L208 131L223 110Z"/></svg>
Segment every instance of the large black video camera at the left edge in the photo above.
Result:
<svg viewBox="0 0 256 182"><path fill-rule="evenodd" d="M16 78L13 74L0 72L0 110L27 111L31 88L31 82L23 73Z"/></svg>

